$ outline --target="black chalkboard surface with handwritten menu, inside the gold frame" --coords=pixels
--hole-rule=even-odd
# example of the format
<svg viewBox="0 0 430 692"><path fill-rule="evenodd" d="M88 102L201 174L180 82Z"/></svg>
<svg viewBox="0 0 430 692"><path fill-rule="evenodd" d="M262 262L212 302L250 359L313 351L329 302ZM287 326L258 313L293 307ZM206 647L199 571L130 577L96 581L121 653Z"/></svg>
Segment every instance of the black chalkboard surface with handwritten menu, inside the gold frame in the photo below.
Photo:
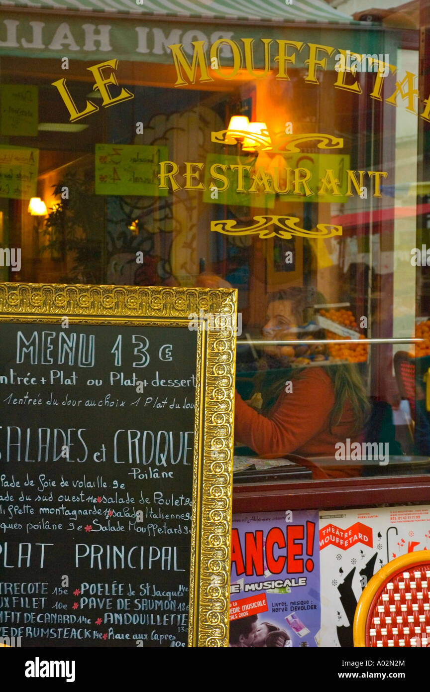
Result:
<svg viewBox="0 0 430 692"><path fill-rule="evenodd" d="M0 334L0 636L187 646L197 332Z"/></svg>

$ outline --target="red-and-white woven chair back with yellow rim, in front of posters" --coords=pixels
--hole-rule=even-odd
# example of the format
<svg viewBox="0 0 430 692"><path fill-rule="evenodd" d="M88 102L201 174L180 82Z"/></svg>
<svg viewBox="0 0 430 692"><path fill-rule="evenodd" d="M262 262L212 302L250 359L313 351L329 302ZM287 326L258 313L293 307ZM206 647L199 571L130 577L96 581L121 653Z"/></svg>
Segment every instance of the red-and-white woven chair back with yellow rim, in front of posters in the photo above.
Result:
<svg viewBox="0 0 430 692"><path fill-rule="evenodd" d="M430 551L395 558L369 581L357 604L354 646L430 646Z"/></svg>

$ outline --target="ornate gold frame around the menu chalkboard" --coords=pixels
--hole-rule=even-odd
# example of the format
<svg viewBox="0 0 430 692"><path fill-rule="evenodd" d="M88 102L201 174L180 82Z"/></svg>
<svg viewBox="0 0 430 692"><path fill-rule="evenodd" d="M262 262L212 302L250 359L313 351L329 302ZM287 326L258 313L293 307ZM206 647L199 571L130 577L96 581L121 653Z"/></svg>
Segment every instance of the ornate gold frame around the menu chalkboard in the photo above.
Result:
<svg viewBox="0 0 430 692"><path fill-rule="evenodd" d="M225 314L197 332L188 646L228 644L237 291L160 286L0 284L1 322L187 328L191 313Z"/></svg>

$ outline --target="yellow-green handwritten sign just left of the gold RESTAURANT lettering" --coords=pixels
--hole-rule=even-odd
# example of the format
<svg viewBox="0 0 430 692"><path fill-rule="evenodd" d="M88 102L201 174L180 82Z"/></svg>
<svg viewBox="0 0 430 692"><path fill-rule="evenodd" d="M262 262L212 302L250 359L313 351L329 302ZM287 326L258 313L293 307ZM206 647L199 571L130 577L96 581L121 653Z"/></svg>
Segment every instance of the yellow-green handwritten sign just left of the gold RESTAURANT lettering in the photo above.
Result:
<svg viewBox="0 0 430 692"><path fill-rule="evenodd" d="M169 158L167 147L150 145L95 145L95 194L166 197L158 188L160 161Z"/></svg>

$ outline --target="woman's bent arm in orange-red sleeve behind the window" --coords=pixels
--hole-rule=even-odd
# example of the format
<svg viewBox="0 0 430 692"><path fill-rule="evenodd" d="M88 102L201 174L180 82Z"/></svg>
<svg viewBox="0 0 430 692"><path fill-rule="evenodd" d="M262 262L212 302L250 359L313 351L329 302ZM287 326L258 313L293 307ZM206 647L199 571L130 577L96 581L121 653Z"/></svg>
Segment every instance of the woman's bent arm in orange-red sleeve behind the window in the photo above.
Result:
<svg viewBox="0 0 430 692"><path fill-rule="evenodd" d="M257 454L279 457L292 453L328 426L335 394L321 368L292 380L292 392L281 392L265 417L247 406L236 392L234 436Z"/></svg>

